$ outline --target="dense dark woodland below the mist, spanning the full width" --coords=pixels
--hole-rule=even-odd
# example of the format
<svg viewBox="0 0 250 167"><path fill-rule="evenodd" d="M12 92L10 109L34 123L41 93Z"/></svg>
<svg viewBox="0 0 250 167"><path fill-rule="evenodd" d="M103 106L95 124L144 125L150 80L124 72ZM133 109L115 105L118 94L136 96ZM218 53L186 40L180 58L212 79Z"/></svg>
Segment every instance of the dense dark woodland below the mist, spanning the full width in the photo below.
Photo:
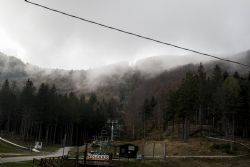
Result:
<svg viewBox="0 0 250 167"><path fill-rule="evenodd" d="M35 87L31 80L20 89L5 80L0 90L1 133L45 144L61 144L66 136L67 144L81 144L107 129L108 119L118 119L123 138L249 138L250 75L228 73L219 65L210 69L200 64L195 70L150 79L140 71L128 72L117 87L110 84L85 95L65 94L45 83ZM167 81L156 84L164 75Z"/></svg>

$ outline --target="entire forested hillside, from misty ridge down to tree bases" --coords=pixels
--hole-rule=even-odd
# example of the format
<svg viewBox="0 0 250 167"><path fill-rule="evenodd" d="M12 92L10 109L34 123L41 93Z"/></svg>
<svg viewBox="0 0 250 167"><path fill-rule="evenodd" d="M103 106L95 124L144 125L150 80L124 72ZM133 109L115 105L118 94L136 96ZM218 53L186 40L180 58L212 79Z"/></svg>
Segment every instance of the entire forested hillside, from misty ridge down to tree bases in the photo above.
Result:
<svg viewBox="0 0 250 167"><path fill-rule="evenodd" d="M248 63L250 54L237 59ZM137 67L46 70L1 56L1 132L46 144L61 143L66 135L68 144L76 144L117 119L120 134L131 139L250 137L249 69L214 61L149 76L150 70Z"/></svg>

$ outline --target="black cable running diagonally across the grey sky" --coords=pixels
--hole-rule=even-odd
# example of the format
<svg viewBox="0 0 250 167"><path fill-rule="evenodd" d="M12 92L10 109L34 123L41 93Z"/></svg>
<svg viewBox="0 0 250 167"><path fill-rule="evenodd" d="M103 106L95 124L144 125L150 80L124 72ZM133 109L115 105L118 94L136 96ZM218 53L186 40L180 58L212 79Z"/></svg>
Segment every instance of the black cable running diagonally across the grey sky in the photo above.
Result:
<svg viewBox="0 0 250 167"><path fill-rule="evenodd" d="M63 14L63 15L66 15L66 16L69 16L69 17L72 17L72 18L75 18L75 19L79 19L79 20L82 20L82 21L85 21L85 22L88 22L88 23L91 23L91 24L95 24L95 25L98 25L98 26L101 26L101 27L105 27L105 28L108 28L108 29L111 29L111 30L114 30L114 31L118 31L118 32L125 33L125 34L128 34L128 35L136 36L138 38L150 40L150 41L160 43L160 44L163 44L163 45L168 45L168 46L175 47L175 48L178 48L178 49L186 50L186 51L193 52L193 53L196 53L196 54L200 54L200 55L203 55L203 56L212 57L214 59L218 59L218 60L222 60L222 61L226 61L226 62L230 62L230 63L234 63L234 64L238 64L238 65L250 68L249 65L243 64L241 62L220 58L220 57L217 57L217 56L214 56L214 55L211 55L211 54L203 53L203 52L196 51L196 50L193 50L193 49L184 48L184 47L181 47L181 46L178 46L178 45L175 45L175 44L163 42L163 41L160 41L160 40L157 40L157 39L154 39L154 38L146 37L146 36L136 34L136 33L132 33L132 32L129 32L129 31L125 31L125 30L122 30L122 29L119 29L119 28L115 28L115 27L112 27L112 26L108 26L108 25L105 25L105 24L102 24L102 23L92 21L92 20L84 19L82 17L78 17L78 16L75 16L75 15L72 15L72 14L68 14L68 13L65 13L65 12L60 11L60 10L52 9L52 8L47 7L47 6L44 6L44 5L41 5L41 4L38 4L38 3L34 3L34 2L31 2L31 1L28 1L28 0L24 0L24 1L27 2L27 3L30 3L32 5L39 6L41 8L47 9L47 10L50 10L50 11L53 11L53 12L56 12L56 13L60 13L60 14Z"/></svg>

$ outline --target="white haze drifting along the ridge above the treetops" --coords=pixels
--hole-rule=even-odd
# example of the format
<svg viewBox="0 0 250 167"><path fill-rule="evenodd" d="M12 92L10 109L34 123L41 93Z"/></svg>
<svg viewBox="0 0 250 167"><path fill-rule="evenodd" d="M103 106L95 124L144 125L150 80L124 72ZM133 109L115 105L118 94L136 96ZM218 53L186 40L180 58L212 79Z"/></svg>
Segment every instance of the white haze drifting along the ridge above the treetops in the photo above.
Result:
<svg viewBox="0 0 250 167"><path fill-rule="evenodd" d="M230 55L230 57L227 58L249 64L249 56L250 51L238 53L233 56ZM205 68L210 72L214 65L219 63L220 66L224 67L224 69L230 73L235 71L244 75L247 73L245 67L224 63L222 61L213 62L211 60L213 59L206 57L197 58L191 55L163 55L141 59L135 64L120 62L89 70L62 70L40 68L32 64L24 64L21 60L6 56L0 52L0 83L5 79L9 79L11 81L17 81L17 84L22 87L26 80L30 78L36 86L39 86L42 82L50 85L56 84L60 92L66 93L73 91L79 94L96 90L117 91L119 84L125 81L124 76L127 74L131 76L134 72L139 72L144 79L150 79L158 74L162 74L164 71L171 71L172 69L178 68L178 66L187 64L198 65L200 62L202 62Z"/></svg>

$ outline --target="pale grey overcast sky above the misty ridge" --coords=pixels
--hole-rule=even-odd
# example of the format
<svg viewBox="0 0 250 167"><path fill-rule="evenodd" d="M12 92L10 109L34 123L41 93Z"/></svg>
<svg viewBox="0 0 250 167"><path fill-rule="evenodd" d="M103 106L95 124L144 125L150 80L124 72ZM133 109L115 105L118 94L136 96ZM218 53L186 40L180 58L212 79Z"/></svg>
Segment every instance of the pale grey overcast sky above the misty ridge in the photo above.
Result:
<svg viewBox="0 0 250 167"><path fill-rule="evenodd" d="M250 0L32 1L209 54L250 49ZM0 0L0 51L40 67L64 69L188 54L53 13L24 0Z"/></svg>

